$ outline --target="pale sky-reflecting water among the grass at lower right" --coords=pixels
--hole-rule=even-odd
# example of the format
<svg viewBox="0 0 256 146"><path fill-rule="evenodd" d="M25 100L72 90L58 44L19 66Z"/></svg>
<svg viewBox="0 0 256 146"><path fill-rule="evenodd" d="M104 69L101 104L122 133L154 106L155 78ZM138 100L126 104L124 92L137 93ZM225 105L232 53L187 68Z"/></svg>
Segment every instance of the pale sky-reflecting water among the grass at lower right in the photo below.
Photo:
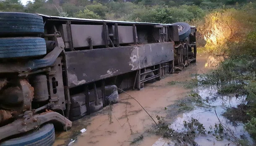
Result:
<svg viewBox="0 0 256 146"><path fill-rule="evenodd" d="M227 118L223 117L222 114L229 107L237 107L241 103L245 103L246 96L235 96L228 95L223 96L217 93L217 88L214 86L211 87L198 87L194 90L198 93L204 101L204 107L196 107L196 109L181 113L178 118L170 125L170 128L174 129L177 132L184 131L183 121L190 121L191 118L197 119L201 124L204 125L206 131L213 131L215 124L222 125L229 129L229 136L225 136L223 140L219 140L216 136L213 136L211 133L206 135L199 135L195 138L198 146L236 146L234 139L232 138L242 138L247 140L249 145L253 145L253 140L243 128L243 123L236 122L232 123ZM175 146L175 143L167 140L165 138L159 138L152 146Z"/></svg>

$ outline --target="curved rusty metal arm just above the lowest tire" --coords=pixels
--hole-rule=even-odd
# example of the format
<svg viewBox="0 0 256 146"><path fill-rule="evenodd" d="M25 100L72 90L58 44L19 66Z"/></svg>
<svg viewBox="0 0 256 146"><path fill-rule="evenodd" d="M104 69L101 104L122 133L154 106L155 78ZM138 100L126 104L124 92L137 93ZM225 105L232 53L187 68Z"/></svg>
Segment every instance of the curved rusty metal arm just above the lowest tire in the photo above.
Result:
<svg viewBox="0 0 256 146"><path fill-rule="evenodd" d="M9 123L8 125L0 127L0 140L20 134L26 131L30 131L37 126L40 126L47 122L56 122L63 126L63 130L71 128L72 122L61 114L53 111L47 111L42 114L34 115L32 113L27 114L23 118L17 119L16 121ZM67 130L68 130L67 129Z"/></svg>

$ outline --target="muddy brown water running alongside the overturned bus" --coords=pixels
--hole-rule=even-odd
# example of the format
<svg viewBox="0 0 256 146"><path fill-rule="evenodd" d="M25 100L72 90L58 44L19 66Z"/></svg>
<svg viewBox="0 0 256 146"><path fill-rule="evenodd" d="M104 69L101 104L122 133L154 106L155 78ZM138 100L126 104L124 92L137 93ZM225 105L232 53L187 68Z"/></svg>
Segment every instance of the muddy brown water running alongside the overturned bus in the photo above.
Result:
<svg viewBox="0 0 256 146"><path fill-rule="evenodd" d="M157 121L156 115L166 115L165 107L185 97L191 91L191 89L186 89L183 86L170 86L168 82L186 81L192 78L191 74L206 73L211 68L211 65L217 64L218 60L214 60L215 62L213 60L212 57L207 55L198 55L197 63L191 63L188 68L183 69L179 74L172 74L161 81L147 84L141 91L127 91L127 93L136 98L154 120ZM102 111L74 121L70 131L56 132L54 146L129 146L133 138L138 137L142 133L144 133L144 139L137 145L162 146L167 144L167 140L161 139L159 136L145 134L145 131L152 127L154 122L136 101L128 98L128 95L125 93L121 93L119 99L120 103L112 106L111 116L108 116L110 115L110 107L107 106ZM125 111L128 115L130 126L125 116ZM201 113L203 111L193 112ZM190 117L191 115L189 116L189 114L193 116L195 113L188 113L186 116L179 115L177 121L183 121ZM110 117L112 117L111 124ZM211 119L205 118L205 120L209 121ZM176 125L182 123L177 121ZM86 132L81 133L77 138L74 137L82 128L86 128ZM176 128L179 128L179 126ZM131 134L131 131L133 134Z"/></svg>

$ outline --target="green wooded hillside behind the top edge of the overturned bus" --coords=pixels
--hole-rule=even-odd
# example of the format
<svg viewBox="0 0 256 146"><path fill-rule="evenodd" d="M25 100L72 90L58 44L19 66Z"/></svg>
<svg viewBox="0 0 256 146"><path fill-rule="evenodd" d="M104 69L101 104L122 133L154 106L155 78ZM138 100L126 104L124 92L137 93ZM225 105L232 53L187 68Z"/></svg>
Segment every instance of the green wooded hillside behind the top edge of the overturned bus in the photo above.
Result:
<svg viewBox="0 0 256 146"><path fill-rule="evenodd" d="M195 22L212 10L242 8L247 0L1 0L1 11L154 23ZM223 18L224 19L224 18Z"/></svg>

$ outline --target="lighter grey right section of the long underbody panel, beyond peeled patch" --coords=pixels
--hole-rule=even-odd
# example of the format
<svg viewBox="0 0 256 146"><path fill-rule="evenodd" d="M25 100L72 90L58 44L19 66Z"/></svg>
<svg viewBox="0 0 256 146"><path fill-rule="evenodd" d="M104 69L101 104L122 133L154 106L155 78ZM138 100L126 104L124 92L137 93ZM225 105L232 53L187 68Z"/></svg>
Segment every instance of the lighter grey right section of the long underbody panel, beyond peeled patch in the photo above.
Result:
<svg viewBox="0 0 256 146"><path fill-rule="evenodd" d="M174 60L173 45L172 42L143 45L138 52L140 68Z"/></svg>

